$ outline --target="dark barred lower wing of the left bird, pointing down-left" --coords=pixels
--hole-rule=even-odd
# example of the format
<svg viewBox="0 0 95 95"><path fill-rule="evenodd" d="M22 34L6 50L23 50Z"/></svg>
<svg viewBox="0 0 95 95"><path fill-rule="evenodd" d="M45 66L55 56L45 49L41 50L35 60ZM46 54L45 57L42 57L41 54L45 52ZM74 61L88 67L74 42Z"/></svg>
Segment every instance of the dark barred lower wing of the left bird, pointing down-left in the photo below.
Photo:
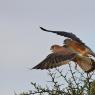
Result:
<svg viewBox="0 0 95 95"><path fill-rule="evenodd" d="M63 55L59 53L49 54L41 63L33 67L32 69L50 69L68 64L75 57L75 54Z"/></svg>

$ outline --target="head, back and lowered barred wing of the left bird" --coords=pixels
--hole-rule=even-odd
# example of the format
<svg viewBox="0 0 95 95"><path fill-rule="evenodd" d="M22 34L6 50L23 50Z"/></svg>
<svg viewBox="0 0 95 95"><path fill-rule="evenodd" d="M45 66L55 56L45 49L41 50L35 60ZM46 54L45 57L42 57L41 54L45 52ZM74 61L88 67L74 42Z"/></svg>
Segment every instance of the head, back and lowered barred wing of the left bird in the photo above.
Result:
<svg viewBox="0 0 95 95"><path fill-rule="evenodd" d="M53 45L50 49L52 50L52 53L37 66L33 67L33 69L50 69L59 67L63 64L68 64L76 55L75 53L71 53L65 47L59 45Z"/></svg>

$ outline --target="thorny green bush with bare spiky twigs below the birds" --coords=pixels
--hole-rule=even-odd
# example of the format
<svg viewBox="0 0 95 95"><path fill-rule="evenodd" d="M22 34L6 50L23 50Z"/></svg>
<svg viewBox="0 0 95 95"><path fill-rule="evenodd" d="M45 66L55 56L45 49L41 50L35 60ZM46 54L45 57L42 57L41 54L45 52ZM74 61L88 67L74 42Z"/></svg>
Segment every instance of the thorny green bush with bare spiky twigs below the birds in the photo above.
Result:
<svg viewBox="0 0 95 95"><path fill-rule="evenodd" d="M69 64L69 70L64 75L63 70L48 70L51 80L51 87L31 82L33 90L21 93L19 95L95 95L94 72L87 74L77 69L72 70Z"/></svg>

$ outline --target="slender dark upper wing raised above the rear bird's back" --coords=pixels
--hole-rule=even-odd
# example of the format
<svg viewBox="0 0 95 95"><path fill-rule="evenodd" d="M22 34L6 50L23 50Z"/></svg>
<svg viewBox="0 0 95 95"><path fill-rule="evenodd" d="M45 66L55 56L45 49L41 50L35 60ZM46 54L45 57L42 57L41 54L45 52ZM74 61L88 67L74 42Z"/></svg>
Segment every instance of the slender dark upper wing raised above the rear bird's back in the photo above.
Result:
<svg viewBox="0 0 95 95"><path fill-rule="evenodd" d="M85 45L75 34L73 33L69 33L69 32L65 32L65 31L52 31L52 30L47 30L43 27L40 27L43 31L47 31L47 32L52 32L52 33L56 33L57 35L61 35L64 37L68 37L71 38L72 40L75 40L83 45Z"/></svg>

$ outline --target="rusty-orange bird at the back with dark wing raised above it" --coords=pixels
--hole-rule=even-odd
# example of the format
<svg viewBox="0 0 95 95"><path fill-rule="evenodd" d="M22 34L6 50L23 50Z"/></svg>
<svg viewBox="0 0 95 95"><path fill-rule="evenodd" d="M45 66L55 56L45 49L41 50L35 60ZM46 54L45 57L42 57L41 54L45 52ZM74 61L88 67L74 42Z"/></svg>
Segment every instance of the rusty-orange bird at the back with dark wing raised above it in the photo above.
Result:
<svg viewBox="0 0 95 95"><path fill-rule="evenodd" d="M75 34L70 33L70 32L65 32L65 31L47 30L43 27L40 27L40 29L43 31L56 33L57 35L60 35L60 36L68 37L69 39L64 40L64 43L67 46L72 47L76 50L80 50L81 52L84 52L85 50L85 53L95 57L95 53L85 43L83 43L82 40L80 40Z"/></svg>

